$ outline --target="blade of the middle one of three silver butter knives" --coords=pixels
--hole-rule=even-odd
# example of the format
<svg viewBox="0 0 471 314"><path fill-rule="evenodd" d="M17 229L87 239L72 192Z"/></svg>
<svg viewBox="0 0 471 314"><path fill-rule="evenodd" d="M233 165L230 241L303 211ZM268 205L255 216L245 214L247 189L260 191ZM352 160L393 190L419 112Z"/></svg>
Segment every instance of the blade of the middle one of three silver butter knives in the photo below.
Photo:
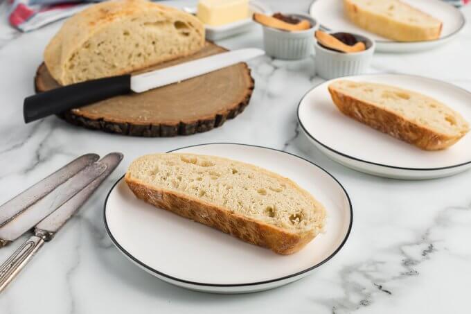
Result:
<svg viewBox="0 0 471 314"><path fill-rule="evenodd" d="M51 193L48 193L44 198L38 200L35 204L17 215L15 219L0 227L0 244L6 245L27 232L40 220L55 211L55 209L72 198L73 195L80 192L85 186L104 173L106 168L106 164L95 162L82 169L82 171L60 186L57 186Z"/></svg>

